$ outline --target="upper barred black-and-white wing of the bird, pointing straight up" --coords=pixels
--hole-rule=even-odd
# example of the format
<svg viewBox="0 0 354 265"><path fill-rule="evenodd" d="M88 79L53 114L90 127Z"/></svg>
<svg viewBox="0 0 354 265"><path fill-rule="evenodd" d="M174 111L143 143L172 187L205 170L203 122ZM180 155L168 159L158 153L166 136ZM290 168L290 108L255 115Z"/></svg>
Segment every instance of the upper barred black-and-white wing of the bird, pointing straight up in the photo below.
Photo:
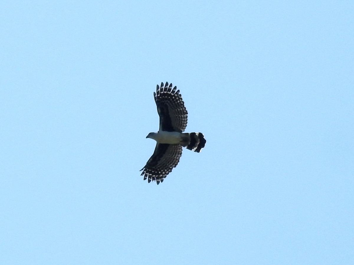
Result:
<svg viewBox="0 0 354 265"><path fill-rule="evenodd" d="M166 82L157 85L154 98L157 106L157 111L160 116L160 130L162 131L178 131L182 133L187 127L188 112L184 107L184 102L179 90L172 84Z"/></svg>

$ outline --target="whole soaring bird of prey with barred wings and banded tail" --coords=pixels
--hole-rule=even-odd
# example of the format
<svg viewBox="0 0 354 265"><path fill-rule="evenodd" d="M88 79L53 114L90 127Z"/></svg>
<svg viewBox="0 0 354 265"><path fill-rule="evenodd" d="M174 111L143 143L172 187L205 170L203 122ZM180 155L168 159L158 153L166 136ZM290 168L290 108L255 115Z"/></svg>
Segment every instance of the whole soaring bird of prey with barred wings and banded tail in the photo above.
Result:
<svg viewBox="0 0 354 265"><path fill-rule="evenodd" d="M202 133L183 133L187 126L187 110L177 87L166 82L157 85L154 98L160 116L160 128L157 133L149 133L146 138L156 141L153 155L140 170L141 176L148 182L157 184L176 167L182 155L182 146L194 152L200 152L206 140Z"/></svg>

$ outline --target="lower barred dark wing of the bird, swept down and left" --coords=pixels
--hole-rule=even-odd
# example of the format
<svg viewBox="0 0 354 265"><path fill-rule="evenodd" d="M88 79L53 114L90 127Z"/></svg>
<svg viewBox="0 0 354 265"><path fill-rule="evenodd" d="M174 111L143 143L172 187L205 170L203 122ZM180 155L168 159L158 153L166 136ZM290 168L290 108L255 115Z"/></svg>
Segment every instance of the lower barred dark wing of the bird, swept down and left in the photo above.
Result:
<svg viewBox="0 0 354 265"><path fill-rule="evenodd" d="M176 167L182 155L181 145L169 145L168 143L156 143L155 151L146 165L141 169L144 180L156 181L157 184Z"/></svg>

